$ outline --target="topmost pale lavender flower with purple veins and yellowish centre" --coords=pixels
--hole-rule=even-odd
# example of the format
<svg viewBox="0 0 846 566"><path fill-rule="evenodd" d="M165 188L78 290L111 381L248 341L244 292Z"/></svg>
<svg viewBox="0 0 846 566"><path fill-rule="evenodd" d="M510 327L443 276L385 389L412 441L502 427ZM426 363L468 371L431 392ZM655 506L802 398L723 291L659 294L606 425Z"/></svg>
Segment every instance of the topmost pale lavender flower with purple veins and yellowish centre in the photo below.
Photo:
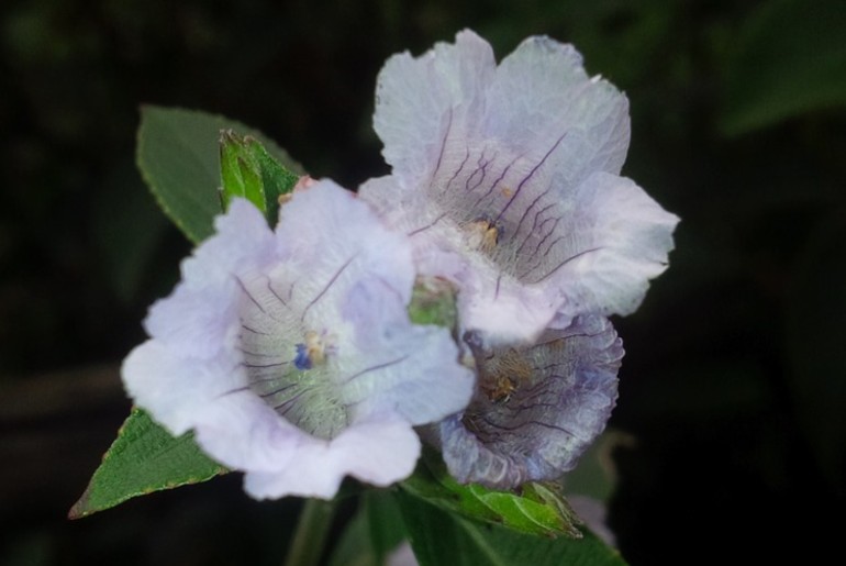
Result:
<svg viewBox="0 0 846 566"><path fill-rule="evenodd" d="M392 175L359 193L460 288L464 326L528 342L580 313L627 314L667 266L678 218L620 177L628 103L570 45L530 37L497 66L471 31L379 75Z"/></svg>

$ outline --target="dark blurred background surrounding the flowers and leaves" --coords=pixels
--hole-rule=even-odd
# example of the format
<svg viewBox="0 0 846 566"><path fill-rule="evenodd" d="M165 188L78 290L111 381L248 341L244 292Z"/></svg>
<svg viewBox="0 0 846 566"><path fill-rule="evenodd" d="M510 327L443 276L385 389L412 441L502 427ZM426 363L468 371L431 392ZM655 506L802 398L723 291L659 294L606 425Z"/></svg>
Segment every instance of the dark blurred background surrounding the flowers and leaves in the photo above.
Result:
<svg viewBox="0 0 846 566"><path fill-rule="evenodd" d="M387 173L376 74L472 27L572 42L626 91L624 174L682 219L617 320L610 523L633 566L836 548L846 497L846 7L837 0L5 0L0 564L280 564L297 500L234 475L65 520L127 414L118 366L185 238L134 167L138 107L261 129L313 176Z"/></svg>

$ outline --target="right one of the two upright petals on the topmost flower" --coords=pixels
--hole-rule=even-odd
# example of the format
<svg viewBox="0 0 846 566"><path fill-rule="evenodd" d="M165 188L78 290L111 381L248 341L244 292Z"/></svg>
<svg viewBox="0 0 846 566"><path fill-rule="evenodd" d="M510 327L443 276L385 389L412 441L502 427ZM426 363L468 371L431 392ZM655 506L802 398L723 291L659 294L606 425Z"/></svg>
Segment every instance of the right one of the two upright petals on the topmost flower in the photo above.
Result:
<svg viewBox="0 0 846 566"><path fill-rule="evenodd" d="M613 85L590 78L572 45L525 40L497 68L485 134L513 153L543 156L561 188L593 171L619 174L628 149L628 101ZM560 142L559 142L560 140Z"/></svg>

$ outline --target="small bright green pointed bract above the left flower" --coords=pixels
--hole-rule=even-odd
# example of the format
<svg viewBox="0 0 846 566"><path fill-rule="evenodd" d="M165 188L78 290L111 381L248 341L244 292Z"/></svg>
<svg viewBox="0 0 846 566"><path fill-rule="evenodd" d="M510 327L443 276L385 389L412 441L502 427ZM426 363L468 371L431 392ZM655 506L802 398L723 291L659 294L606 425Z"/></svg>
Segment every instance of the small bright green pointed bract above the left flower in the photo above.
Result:
<svg viewBox="0 0 846 566"><path fill-rule="evenodd" d="M244 197L276 224L279 198L293 190L299 176L268 154L258 140L232 130L221 132L220 159L224 206L233 197Z"/></svg>

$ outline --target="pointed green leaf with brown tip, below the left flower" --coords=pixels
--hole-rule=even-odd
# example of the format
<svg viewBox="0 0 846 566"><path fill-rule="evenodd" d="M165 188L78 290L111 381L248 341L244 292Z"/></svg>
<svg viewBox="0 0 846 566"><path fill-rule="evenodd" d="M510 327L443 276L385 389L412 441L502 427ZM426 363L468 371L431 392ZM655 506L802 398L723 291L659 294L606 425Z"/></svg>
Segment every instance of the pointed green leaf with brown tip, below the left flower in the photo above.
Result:
<svg viewBox="0 0 846 566"><path fill-rule="evenodd" d="M192 435L178 439L133 409L68 517L80 519L130 498L205 481L226 468L211 460Z"/></svg>

